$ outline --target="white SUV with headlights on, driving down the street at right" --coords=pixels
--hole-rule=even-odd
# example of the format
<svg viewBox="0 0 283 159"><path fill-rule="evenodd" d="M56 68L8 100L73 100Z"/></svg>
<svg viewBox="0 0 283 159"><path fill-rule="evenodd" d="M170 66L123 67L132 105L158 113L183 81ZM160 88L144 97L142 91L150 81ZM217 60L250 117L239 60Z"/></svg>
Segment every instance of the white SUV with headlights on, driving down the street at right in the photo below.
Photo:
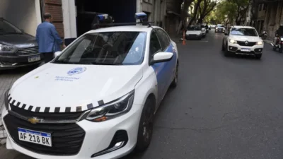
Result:
<svg viewBox="0 0 283 159"><path fill-rule="evenodd" d="M262 57L263 41L257 30L250 26L233 26L222 41L222 51L229 54L245 54L260 59Z"/></svg>

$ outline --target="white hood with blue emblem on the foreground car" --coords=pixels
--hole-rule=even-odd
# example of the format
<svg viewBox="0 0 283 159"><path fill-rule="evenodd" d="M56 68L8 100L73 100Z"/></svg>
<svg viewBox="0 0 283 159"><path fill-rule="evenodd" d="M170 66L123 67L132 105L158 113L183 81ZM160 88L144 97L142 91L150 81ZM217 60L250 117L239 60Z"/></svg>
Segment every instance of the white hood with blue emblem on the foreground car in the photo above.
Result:
<svg viewBox="0 0 283 159"><path fill-rule="evenodd" d="M19 78L10 94L13 100L36 107L98 106L100 100L107 103L134 90L141 78L141 66L49 63Z"/></svg>

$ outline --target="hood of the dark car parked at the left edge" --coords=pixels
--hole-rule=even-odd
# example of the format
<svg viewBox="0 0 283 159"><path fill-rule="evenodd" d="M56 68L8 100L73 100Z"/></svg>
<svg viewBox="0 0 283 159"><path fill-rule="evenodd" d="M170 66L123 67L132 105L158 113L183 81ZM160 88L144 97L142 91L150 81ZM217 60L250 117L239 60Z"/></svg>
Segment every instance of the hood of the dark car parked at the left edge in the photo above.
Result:
<svg viewBox="0 0 283 159"><path fill-rule="evenodd" d="M0 35L0 44L2 45L13 45L16 47L30 47L33 45L37 46L35 37L28 34L5 34Z"/></svg>

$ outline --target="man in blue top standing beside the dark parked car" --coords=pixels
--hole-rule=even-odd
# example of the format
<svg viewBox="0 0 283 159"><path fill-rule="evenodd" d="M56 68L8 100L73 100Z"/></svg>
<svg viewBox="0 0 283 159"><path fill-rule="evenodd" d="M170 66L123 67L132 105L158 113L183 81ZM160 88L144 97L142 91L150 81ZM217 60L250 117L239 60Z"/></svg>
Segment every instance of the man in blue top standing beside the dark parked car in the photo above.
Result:
<svg viewBox="0 0 283 159"><path fill-rule="evenodd" d="M45 64L54 59L54 52L60 51L60 45L66 47L61 37L52 24L52 15L45 13L43 16L45 21L37 26L36 40L39 47L39 52L42 53Z"/></svg>

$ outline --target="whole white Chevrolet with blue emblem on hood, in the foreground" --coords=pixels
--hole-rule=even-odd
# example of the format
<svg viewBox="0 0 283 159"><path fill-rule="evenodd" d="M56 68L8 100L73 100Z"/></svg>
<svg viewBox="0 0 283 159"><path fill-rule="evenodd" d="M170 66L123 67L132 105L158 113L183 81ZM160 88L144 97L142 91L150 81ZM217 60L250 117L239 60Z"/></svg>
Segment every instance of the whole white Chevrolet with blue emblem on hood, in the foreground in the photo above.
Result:
<svg viewBox="0 0 283 159"><path fill-rule="evenodd" d="M145 151L158 105L177 82L178 49L162 28L91 30L5 93L6 147L47 159Z"/></svg>

